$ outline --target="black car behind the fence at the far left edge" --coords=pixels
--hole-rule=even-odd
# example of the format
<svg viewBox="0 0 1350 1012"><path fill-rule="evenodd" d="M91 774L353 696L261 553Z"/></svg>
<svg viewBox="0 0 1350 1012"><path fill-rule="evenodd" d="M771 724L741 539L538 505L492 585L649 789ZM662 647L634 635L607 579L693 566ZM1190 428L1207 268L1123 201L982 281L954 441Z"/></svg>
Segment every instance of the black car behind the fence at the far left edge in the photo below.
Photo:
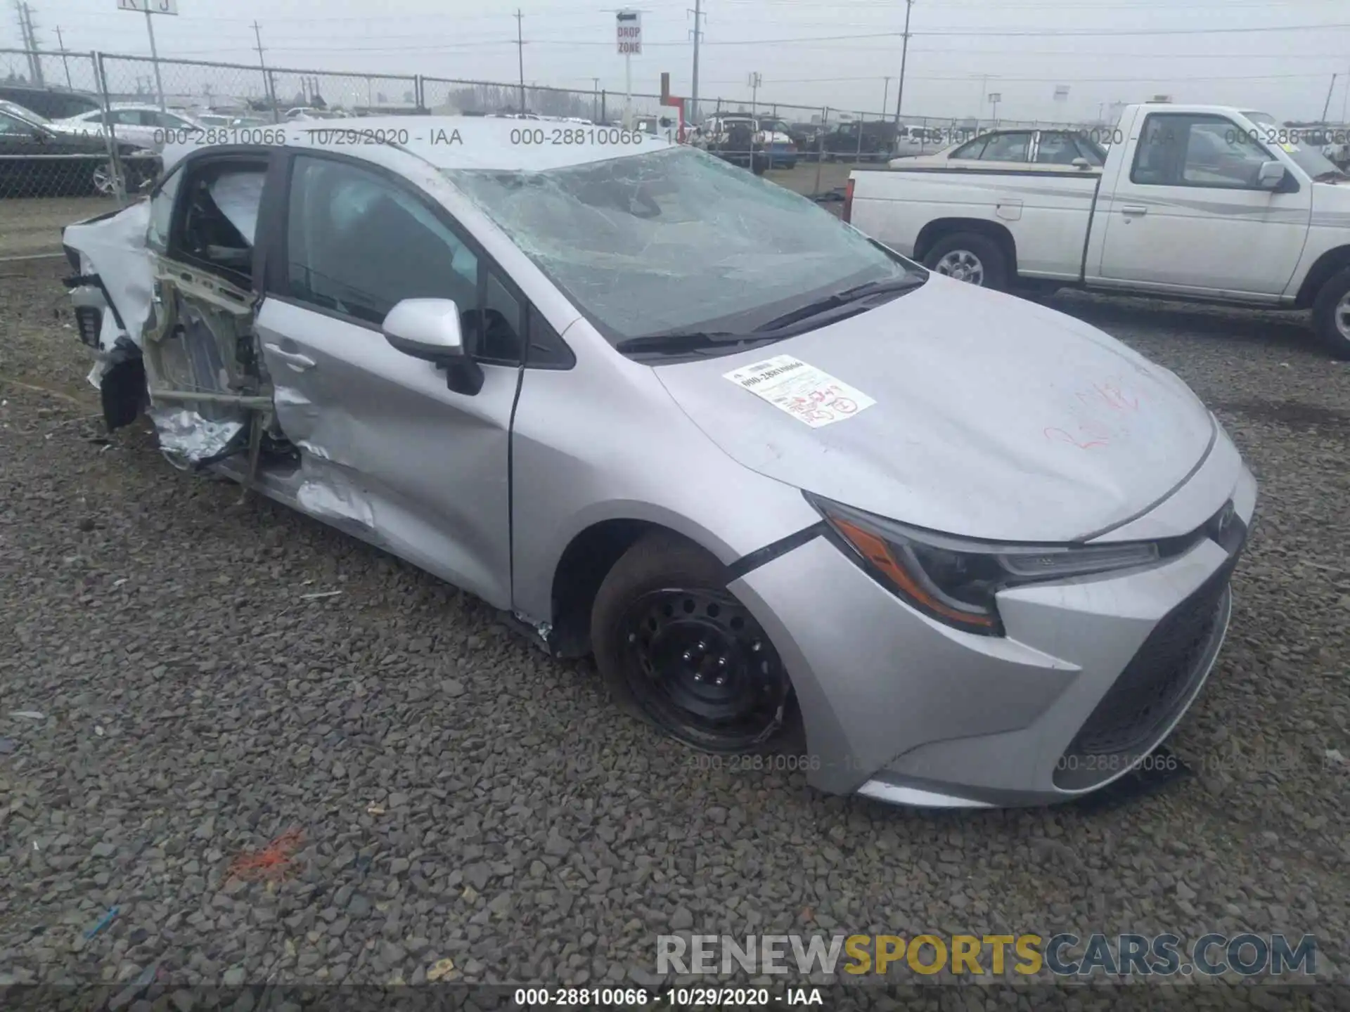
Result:
<svg viewBox="0 0 1350 1012"><path fill-rule="evenodd" d="M0 197L77 197L116 193L108 139L54 130L36 113L0 105ZM138 192L159 173L154 151L115 140L126 186Z"/></svg>

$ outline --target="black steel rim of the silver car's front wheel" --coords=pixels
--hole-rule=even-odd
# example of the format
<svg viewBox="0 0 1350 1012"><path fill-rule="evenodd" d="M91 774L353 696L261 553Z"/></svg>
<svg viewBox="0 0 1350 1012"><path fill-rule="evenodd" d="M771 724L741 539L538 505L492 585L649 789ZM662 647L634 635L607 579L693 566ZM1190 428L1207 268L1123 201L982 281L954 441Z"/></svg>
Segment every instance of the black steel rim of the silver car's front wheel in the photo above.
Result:
<svg viewBox="0 0 1350 1012"><path fill-rule="evenodd" d="M639 704L671 734L736 752L782 726L791 683L768 636L730 594L668 588L643 594L620 619Z"/></svg>

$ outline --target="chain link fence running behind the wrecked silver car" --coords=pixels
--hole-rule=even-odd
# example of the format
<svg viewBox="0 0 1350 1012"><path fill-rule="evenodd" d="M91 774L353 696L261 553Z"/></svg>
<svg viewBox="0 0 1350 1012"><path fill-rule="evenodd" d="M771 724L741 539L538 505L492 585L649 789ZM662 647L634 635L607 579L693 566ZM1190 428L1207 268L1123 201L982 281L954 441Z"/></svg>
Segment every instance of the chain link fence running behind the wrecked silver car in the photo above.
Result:
<svg viewBox="0 0 1350 1012"><path fill-rule="evenodd" d="M370 115L526 116L629 125L705 147L755 171L817 166L802 193L840 173L925 154L998 127L1100 124L957 120L706 97L676 109L651 92L579 90L421 74L366 74L0 49L0 258L59 252L61 228L140 198L166 142L284 120ZM836 163L838 170L822 173ZM845 173L846 175L846 173Z"/></svg>

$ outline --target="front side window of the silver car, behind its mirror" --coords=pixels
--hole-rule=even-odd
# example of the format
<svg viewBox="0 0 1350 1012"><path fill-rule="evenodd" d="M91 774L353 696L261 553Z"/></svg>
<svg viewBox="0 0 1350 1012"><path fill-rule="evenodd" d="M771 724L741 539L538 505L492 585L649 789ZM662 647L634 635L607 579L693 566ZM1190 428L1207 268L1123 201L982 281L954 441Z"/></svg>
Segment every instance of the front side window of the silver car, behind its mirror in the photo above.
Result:
<svg viewBox="0 0 1350 1012"><path fill-rule="evenodd" d="M475 358L520 362L520 301L409 189L348 162L301 155L288 217L292 298L377 327L405 298L454 300Z"/></svg>

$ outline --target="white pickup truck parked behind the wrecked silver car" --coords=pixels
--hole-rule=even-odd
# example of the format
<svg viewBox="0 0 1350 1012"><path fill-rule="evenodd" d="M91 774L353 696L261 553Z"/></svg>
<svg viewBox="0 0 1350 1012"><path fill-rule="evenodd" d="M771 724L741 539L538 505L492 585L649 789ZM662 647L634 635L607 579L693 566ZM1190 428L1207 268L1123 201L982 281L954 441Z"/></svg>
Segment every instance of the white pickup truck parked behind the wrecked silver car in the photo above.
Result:
<svg viewBox="0 0 1350 1012"><path fill-rule="evenodd" d="M855 170L844 219L954 278L1312 309L1350 359L1350 175L1300 131L1219 105L1130 105L1106 165ZM1094 138L1096 139L1096 138Z"/></svg>

